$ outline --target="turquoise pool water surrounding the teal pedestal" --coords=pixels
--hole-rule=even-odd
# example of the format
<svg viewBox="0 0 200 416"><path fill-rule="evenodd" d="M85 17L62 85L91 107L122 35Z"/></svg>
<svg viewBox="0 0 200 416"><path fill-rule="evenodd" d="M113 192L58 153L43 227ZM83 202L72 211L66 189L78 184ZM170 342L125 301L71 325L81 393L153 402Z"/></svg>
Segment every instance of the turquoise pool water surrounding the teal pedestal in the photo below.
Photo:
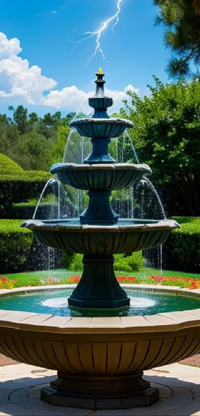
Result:
<svg viewBox="0 0 200 416"><path fill-rule="evenodd" d="M60 316L132 316L200 308L200 298L175 296L150 291L127 290L130 307L118 310L69 309L67 297L72 289L35 292L0 298L0 309L35 313L51 313Z"/></svg>

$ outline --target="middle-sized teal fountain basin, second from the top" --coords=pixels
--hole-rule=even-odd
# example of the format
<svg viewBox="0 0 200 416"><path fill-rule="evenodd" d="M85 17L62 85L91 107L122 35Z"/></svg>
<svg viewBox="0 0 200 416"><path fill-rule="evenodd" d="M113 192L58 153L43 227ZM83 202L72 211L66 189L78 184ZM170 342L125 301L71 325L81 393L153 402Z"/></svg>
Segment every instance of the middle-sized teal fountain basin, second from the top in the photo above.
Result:
<svg viewBox="0 0 200 416"><path fill-rule="evenodd" d="M65 184L76 189L114 190L133 186L143 175L151 174L148 165L133 164L96 164L76 165L56 163L52 166L52 174Z"/></svg>

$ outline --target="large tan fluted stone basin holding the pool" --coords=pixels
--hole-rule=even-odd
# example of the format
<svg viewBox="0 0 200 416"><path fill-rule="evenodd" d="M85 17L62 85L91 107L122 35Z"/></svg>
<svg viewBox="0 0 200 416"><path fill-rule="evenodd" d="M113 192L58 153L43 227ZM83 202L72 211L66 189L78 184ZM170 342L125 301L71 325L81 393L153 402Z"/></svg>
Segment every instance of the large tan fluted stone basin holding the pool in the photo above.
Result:
<svg viewBox="0 0 200 416"><path fill-rule="evenodd" d="M123 286L200 297L200 290L191 293L177 287ZM53 289L1 290L0 296L38 290ZM129 376L199 352L200 309L109 318L0 310L0 353L71 376Z"/></svg>

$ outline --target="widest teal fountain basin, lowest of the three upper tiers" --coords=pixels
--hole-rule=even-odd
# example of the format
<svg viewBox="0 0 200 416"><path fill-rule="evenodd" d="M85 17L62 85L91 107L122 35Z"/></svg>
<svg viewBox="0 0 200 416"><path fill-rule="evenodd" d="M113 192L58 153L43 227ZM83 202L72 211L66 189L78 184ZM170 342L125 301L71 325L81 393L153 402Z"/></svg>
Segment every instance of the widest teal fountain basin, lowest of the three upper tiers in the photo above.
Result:
<svg viewBox="0 0 200 416"><path fill-rule="evenodd" d="M174 220L119 220L114 226L93 226L69 219L28 220L21 227L32 230L47 246L71 253L107 256L157 247L170 231L180 226Z"/></svg>

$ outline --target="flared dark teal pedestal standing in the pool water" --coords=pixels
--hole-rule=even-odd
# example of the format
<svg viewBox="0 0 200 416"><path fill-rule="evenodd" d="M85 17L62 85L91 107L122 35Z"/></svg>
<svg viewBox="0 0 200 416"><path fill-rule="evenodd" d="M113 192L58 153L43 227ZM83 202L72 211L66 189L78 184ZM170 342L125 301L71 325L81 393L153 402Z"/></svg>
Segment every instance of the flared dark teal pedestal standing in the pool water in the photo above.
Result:
<svg viewBox="0 0 200 416"><path fill-rule="evenodd" d="M79 308L120 308L130 305L130 298L119 285L113 256L83 257L83 274L68 298L68 305Z"/></svg>

